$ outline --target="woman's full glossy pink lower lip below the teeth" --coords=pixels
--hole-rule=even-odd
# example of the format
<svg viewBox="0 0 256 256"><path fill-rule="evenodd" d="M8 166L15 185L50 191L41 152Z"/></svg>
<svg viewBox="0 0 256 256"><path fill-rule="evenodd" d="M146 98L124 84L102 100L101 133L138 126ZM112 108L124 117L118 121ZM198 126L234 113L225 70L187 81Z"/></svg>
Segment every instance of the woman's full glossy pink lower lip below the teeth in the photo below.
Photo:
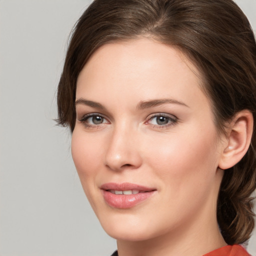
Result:
<svg viewBox="0 0 256 256"><path fill-rule="evenodd" d="M131 208L139 202L149 198L155 190L137 193L137 194L113 194L107 190L101 190L103 197L108 205L114 208L127 209Z"/></svg>

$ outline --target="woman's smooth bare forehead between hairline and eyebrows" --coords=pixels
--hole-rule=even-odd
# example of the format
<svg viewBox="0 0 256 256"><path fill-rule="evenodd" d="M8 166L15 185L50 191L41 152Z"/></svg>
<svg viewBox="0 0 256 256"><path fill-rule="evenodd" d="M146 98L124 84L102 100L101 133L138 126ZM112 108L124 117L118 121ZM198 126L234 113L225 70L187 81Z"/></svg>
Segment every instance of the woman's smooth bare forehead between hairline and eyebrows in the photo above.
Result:
<svg viewBox="0 0 256 256"><path fill-rule="evenodd" d="M98 101L121 98L125 104L127 97L134 103L175 97L189 103L202 97L200 83L196 66L180 50L140 38L98 48L78 76L76 98L97 95Z"/></svg>

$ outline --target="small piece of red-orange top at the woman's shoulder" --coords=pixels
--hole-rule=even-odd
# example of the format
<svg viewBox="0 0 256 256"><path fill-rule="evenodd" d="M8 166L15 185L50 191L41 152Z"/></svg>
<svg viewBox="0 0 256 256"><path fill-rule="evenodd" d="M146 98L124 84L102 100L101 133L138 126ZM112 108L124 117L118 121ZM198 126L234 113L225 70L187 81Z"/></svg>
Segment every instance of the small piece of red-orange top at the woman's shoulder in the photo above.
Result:
<svg viewBox="0 0 256 256"><path fill-rule="evenodd" d="M250 256L241 245L226 245L202 256Z"/></svg>

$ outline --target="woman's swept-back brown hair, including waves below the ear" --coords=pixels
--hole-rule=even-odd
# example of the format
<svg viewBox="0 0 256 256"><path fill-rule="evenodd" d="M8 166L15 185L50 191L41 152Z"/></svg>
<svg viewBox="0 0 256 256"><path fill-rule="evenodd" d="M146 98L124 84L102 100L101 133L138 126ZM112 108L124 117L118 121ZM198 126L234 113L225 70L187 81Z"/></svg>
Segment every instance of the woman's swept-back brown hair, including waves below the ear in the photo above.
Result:
<svg viewBox="0 0 256 256"><path fill-rule="evenodd" d="M250 24L232 0L94 0L76 23L60 77L58 123L75 125L76 79L105 43L138 36L174 45L203 76L217 130L242 109L256 120L256 45ZM224 171L217 220L228 244L247 240L254 227L256 134L244 157Z"/></svg>

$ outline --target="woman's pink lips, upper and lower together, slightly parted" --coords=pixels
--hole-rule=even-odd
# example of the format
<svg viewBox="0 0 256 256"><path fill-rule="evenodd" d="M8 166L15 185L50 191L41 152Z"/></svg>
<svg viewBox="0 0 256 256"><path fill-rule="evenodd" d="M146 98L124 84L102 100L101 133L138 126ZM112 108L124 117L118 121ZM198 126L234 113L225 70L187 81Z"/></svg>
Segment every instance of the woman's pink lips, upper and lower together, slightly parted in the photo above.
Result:
<svg viewBox="0 0 256 256"><path fill-rule="evenodd" d="M105 202L114 208L127 209L151 197L156 189L133 183L105 183L100 186ZM109 190L139 190L136 194L114 194Z"/></svg>

